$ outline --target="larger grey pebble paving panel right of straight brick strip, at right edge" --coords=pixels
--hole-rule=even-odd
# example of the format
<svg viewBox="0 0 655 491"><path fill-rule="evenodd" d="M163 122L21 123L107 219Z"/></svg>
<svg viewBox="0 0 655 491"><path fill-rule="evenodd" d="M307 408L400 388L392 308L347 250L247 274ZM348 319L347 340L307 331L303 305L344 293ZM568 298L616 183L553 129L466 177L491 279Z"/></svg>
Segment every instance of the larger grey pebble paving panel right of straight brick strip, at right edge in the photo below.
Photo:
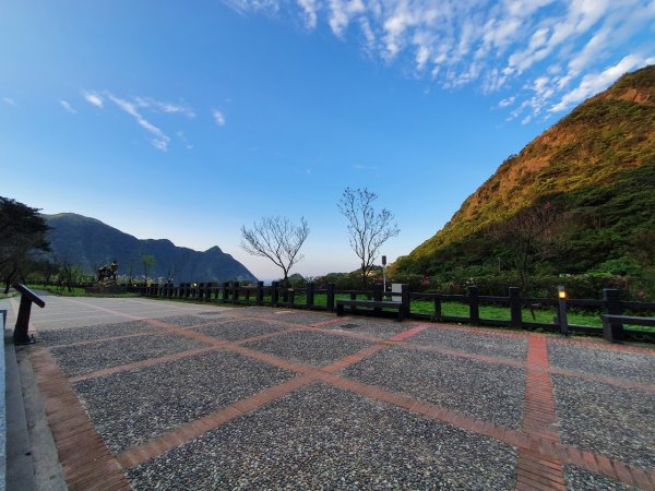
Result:
<svg viewBox="0 0 655 491"><path fill-rule="evenodd" d="M641 467L655 467L655 394L551 376L562 442Z"/></svg>

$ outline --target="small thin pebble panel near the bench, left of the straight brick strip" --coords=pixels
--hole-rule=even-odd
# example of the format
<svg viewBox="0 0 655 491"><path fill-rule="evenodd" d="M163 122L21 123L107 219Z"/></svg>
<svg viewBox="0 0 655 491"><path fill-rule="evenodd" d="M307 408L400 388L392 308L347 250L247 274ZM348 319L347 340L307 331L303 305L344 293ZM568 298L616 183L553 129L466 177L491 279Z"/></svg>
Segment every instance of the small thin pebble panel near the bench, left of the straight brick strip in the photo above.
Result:
<svg viewBox="0 0 655 491"><path fill-rule="evenodd" d="M415 345L438 346L440 348L465 351L524 361L527 358L527 339L475 333L471 331L430 327L408 339Z"/></svg>

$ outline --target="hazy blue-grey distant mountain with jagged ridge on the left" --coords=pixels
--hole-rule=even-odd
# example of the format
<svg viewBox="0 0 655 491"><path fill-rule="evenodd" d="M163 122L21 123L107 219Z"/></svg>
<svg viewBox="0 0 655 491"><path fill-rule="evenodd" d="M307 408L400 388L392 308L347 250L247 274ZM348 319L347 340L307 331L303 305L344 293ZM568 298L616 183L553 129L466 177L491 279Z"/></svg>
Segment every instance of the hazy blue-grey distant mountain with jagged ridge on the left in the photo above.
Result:
<svg viewBox="0 0 655 491"><path fill-rule="evenodd" d="M170 240L140 240L95 218L60 213L44 215L51 230L48 233L57 258L80 265L87 272L118 262L119 275L143 278L141 258L151 254L155 264L150 278L172 277L175 283L227 282L257 278L231 255L213 247L204 252L176 247Z"/></svg>

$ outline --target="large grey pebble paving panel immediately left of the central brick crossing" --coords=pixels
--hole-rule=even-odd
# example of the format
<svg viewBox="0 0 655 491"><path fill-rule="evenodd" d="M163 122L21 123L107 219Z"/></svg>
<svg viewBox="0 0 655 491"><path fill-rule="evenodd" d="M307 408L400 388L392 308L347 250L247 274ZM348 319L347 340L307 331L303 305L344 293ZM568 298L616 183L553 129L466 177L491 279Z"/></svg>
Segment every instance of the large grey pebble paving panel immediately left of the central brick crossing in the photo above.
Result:
<svg viewBox="0 0 655 491"><path fill-rule="evenodd" d="M296 376L225 350L73 384L112 452Z"/></svg>

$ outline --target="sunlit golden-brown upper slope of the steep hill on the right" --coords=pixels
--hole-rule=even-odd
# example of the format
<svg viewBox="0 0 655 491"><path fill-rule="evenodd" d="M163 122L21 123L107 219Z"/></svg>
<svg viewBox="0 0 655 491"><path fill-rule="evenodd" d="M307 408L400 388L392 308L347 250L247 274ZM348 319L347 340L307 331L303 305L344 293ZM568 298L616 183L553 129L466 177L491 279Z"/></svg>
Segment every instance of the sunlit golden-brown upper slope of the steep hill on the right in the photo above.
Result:
<svg viewBox="0 0 655 491"><path fill-rule="evenodd" d="M626 172L651 163L655 163L654 65L624 74L505 159L441 230L401 258L394 267L410 273L427 268L433 274L450 266L488 263L478 254L455 264L456 251L452 249L479 242L480 236L488 239L487 232L498 224L548 200L558 202L562 212L575 211L580 203L570 202L567 194L611 185ZM502 251L484 247L480 252L498 255ZM597 260L616 259L619 253L600 254ZM439 265L444 256L450 266Z"/></svg>

